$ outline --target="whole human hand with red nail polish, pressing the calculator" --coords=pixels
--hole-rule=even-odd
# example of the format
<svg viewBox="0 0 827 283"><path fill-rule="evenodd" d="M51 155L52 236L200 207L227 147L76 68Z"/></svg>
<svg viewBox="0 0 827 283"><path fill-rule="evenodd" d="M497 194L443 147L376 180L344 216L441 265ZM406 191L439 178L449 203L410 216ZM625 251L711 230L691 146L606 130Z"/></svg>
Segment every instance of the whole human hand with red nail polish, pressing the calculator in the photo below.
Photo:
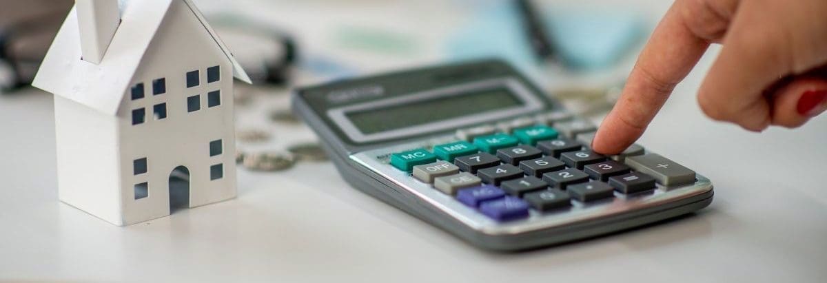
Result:
<svg viewBox="0 0 827 283"><path fill-rule="evenodd" d="M723 48L698 92L704 113L754 132L827 110L827 1L677 0L657 25L592 148L623 151L711 43Z"/></svg>

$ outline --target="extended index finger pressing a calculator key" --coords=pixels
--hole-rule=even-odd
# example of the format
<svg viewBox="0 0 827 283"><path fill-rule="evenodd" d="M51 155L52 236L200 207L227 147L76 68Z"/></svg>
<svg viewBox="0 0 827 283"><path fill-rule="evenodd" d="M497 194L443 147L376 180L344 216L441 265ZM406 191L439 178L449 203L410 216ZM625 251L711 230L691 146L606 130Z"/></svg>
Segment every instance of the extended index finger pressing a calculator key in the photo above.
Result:
<svg viewBox="0 0 827 283"><path fill-rule="evenodd" d="M643 135L672 89L692 70L710 41L697 36L686 13L702 1L676 1L657 25L638 57L623 93L597 131L592 149L617 154ZM694 7L693 7L694 5Z"/></svg>

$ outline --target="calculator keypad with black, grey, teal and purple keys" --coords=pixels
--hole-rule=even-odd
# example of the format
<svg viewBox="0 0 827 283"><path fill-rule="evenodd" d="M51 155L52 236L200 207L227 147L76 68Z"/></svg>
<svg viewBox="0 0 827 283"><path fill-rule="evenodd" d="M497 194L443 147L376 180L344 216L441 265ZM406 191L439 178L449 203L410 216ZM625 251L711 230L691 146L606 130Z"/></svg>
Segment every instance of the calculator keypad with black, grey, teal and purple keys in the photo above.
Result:
<svg viewBox="0 0 827 283"><path fill-rule="evenodd" d="M571 127L560 131L558 124ZM624 156L633 166L617 156L608 159L589 151L581 142L594 136L584 122L554 125L519 124L513 135L475 130L471 132L485 135L473 142L460 136L460 141L433 146L433 153L422 148L394 153L390 163L399 170L413 170L415 179L496 221L527 218L530 209L553 213L569 208L572 200L590 204L614 199L616 192L640 193L655 189L656 181L669 185L694 180L693 171L662 156L643 156L638 145Z"/></svg>

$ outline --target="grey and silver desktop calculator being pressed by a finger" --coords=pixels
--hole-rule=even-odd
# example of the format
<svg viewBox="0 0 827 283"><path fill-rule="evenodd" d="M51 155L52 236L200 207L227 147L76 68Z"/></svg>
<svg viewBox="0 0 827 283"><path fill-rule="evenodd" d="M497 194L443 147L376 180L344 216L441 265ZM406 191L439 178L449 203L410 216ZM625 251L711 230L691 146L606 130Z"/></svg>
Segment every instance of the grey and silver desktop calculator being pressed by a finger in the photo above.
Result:
<svg viewBox="0 0 827 283"><path fill-rule="evenodd" d="M485 249L571 242L712 202L710 180L667 156L590 151L597 127L502 60L338 80L292 101L351 186Z"/></svg>

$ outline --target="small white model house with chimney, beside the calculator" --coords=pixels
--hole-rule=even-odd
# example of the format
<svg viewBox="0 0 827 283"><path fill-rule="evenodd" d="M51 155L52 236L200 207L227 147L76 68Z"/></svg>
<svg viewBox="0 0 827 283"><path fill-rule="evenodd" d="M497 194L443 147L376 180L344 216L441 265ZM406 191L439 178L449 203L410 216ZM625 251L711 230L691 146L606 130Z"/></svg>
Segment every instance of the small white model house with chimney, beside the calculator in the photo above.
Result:
<svg viewBox="0 0 827 283"><path fill-rule="evenodd" d="M77 0L33 85L55 94L60 200L128 225L236 196L232 78L190 0ZM175 179L178 180L178 179Z"/></svg>

